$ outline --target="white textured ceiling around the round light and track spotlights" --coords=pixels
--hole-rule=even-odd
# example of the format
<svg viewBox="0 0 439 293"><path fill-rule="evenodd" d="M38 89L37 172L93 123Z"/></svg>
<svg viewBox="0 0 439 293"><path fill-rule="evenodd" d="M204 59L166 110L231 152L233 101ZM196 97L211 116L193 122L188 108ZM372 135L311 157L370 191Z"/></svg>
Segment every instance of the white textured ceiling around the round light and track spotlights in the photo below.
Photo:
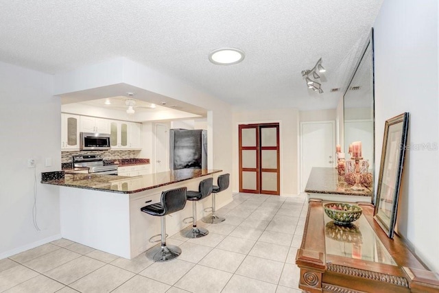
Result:
<svg viewBox="0 0 439 293"><path fill-rule="evenodd" d="M70 71L124 56L235 108L335 108L383 0L0 0L0 60ZM237 47L218 66L208 55ZM300 74L318 58L323 94Z"/></svg>

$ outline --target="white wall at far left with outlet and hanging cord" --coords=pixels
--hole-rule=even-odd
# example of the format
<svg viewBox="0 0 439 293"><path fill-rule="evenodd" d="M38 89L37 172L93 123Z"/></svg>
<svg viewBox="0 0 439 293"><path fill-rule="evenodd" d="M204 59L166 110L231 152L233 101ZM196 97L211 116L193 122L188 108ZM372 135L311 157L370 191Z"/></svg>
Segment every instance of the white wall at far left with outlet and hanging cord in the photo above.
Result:
<svg viewBox="0 0 439 293"><path fill-rule="evenodd" d="M0 62L0 259L60 237L58 187L39 183L40 172L61 168L61 105L52 92L52 75ZM27 168L30 158L36 169Z"/></svg>

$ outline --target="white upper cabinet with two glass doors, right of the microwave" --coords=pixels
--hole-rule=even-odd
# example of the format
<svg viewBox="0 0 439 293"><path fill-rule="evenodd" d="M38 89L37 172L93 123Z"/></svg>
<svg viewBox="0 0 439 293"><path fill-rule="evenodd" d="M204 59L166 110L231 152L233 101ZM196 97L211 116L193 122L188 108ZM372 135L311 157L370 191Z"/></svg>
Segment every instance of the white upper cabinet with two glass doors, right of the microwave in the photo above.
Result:
<svg viewBox="0 0 439 293"><path fill-rule="evenodd" d="M110 122L111 148L140 149L141 124L128 121Z"/></svg>

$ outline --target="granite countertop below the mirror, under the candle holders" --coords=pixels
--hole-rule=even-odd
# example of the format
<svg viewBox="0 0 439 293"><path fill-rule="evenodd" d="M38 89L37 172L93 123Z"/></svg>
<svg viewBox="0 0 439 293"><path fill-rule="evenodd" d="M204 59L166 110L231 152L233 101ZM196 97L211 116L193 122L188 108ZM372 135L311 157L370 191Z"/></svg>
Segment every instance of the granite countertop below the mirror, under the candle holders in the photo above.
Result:
<svg viewBox="0 0 439 293"><path fill-rule="evenodd" d="M346 196L372 196L368 187L364 190L352 190L344 181L344 176L339 176L337 169L329 167L313 167L309 174L305 192L309 194L341 194Z"/></svg>

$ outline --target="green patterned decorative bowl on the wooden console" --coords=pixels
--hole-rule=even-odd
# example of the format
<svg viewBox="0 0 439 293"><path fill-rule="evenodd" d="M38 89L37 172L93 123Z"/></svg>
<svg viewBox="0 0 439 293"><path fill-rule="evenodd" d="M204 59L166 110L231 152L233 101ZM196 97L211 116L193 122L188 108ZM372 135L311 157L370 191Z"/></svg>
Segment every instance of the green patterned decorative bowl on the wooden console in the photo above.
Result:
<svg viewBox="0 0 439 293"><path fill-rule="evenodd" d="M357 204L344 202L329 202L323 205L324 212L335 224L348 225L359 219L363 209Z"/></svg>

